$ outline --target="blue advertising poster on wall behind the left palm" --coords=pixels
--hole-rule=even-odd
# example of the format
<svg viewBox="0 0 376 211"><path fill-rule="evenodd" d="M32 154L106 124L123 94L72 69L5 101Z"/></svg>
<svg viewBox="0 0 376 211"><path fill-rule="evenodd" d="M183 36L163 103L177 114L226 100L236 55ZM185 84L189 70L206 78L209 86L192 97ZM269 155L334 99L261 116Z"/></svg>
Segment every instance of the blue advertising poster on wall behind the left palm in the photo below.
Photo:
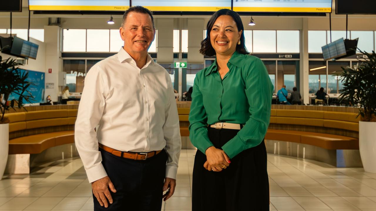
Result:
<svg viewBox="0 0 376 211"><path fill-rule="evenodd" d="M45 73L44 72L36 72L32 70L21 70L21 74L25 71L29 72L29 77L27 81L32 82L34 85L30 85L27 90L33 95L34 99L31 100L32 103L40 103L44 102L44 89L45 89ZM17 99L17 95L9 96L8 100ZM23 102L27 103L27 102Z"/></svg>

